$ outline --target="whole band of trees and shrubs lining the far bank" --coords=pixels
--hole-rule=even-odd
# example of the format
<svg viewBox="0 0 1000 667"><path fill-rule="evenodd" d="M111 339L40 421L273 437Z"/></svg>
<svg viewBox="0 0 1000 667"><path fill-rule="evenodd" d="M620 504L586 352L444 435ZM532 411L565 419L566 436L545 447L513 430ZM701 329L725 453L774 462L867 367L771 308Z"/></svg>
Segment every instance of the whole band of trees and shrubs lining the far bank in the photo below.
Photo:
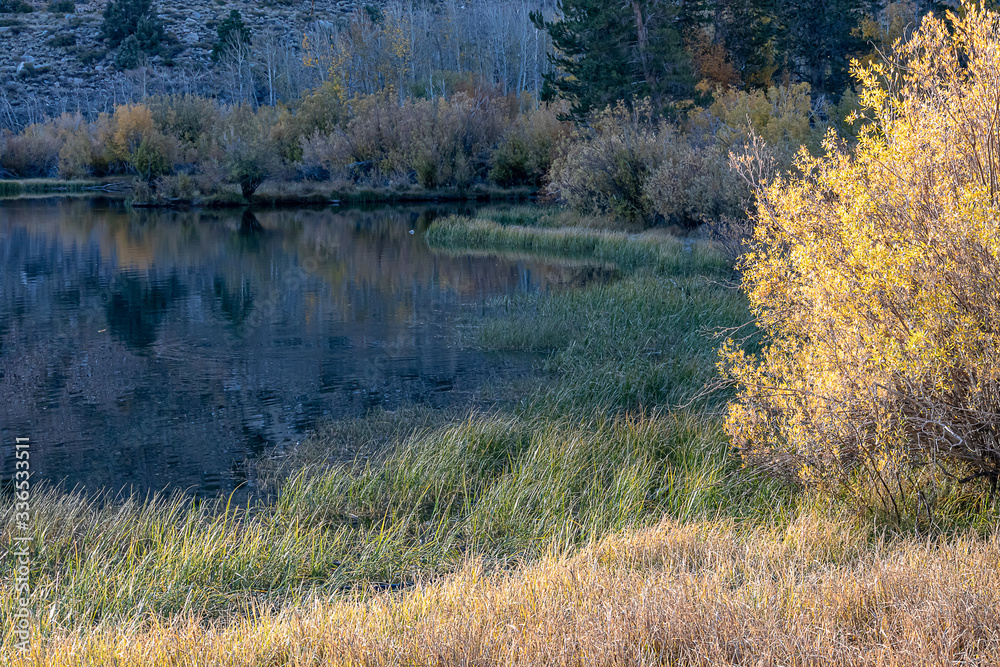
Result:
<svg viewBox="0 0 1000 667"><path fill-rule="evenodd" d="M0 169L130 174L141 198L162 202L249 199L268 179L291 190L545 187L583 213L690 225L748 203L731 153L765 151L783 169L828 127L849 133L850 61L890 52L942 9L390 2L298 35L255 32L232 10L197 78L151 65L171 48L155 4L113 0L103 39L133 85L107 111L4 130Z"/></svg>

